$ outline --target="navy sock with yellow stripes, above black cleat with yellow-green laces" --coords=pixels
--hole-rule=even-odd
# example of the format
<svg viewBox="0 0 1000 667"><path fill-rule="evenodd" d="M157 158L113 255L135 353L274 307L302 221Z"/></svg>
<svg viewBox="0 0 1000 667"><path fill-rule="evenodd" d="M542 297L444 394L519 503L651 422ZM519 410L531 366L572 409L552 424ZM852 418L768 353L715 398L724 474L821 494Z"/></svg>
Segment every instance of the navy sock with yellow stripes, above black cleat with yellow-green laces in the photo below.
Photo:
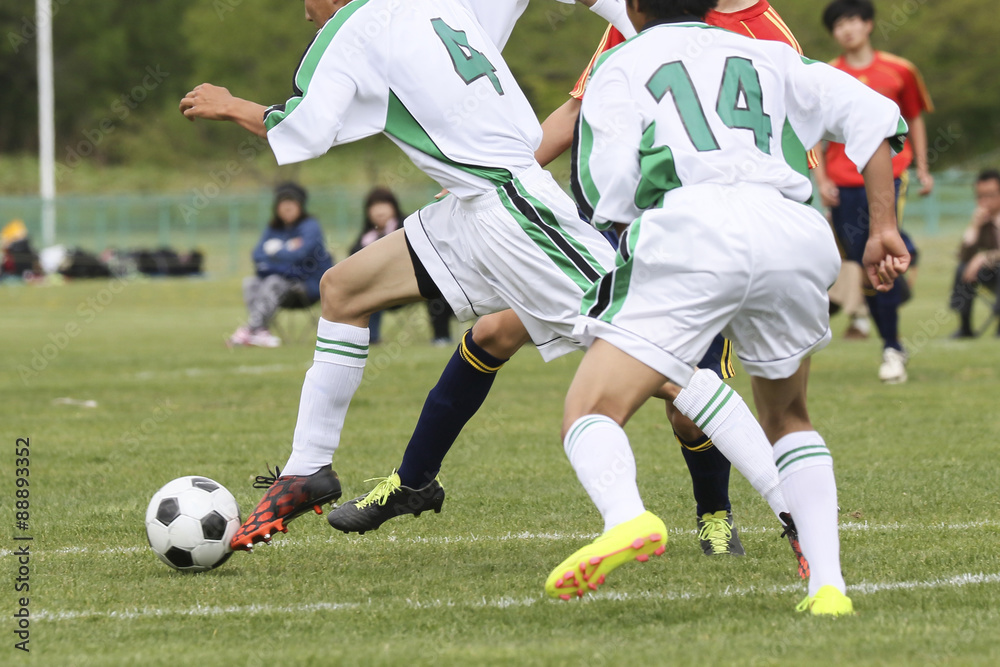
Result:
<svg viewBox="0 0 1000 667"><path fill-rule="evenodd" d="M486 400L497 371L506 359L497 359L465 332L458 349L434 385L399 465L403 486L419 489L433 480L452 444Z"/></svg>

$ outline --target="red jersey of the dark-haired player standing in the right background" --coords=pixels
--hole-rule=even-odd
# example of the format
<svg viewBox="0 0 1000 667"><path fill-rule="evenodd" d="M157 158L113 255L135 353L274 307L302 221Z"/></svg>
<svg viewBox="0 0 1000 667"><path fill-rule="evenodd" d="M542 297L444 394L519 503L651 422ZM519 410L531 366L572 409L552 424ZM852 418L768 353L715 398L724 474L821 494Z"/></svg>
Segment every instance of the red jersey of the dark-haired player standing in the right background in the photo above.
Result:
<svg viewBox="0 0 1000 667"><path fill-rule="evenodd" d="M916 118L924 111L934 111L934 103L927 93L923 77L913 63L905 58L876 51L871 64L860 69L849 66L843 56L830 64L895 102L900 114L907 121ZM903 150L892 159L893 176L899 178L911 162L913 162L913 148L907 141ZM863 187L865 184L865 179L858 173L857 166L844 153L843 144L831 143L827 148L826 170L830 180L838 187Z"/></svg>

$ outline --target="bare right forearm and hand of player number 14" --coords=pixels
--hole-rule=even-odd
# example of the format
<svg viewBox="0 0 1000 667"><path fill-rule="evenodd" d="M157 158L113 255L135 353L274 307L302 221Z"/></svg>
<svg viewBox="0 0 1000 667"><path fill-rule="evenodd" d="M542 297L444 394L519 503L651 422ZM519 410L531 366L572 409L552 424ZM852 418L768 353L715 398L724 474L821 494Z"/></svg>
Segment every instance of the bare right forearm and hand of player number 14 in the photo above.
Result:
<svg viewBox="0 0 1000 667"><path fill-rule="evenodd" d="M871 216L865 246L865 273L876 290L888 292L893 281L910 265L910 253L896 222L896 186L888 141L882 142L861 174L865 178Z"/></svg>

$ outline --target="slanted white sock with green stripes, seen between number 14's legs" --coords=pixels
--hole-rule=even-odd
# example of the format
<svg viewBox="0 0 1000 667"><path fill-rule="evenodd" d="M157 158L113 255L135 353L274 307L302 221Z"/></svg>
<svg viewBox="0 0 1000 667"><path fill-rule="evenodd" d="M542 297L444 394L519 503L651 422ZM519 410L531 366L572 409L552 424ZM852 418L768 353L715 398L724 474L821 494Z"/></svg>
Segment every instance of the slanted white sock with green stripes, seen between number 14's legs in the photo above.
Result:
<svg viewBox="0 0 1000 667"><path fill-rule="evenodd" d="M780 519L781 512L789 511L771 443L743 398L718 375L709 370L696 371L677 395L674 407L712 439L722 455L763 496L775 516Z"/></svg>

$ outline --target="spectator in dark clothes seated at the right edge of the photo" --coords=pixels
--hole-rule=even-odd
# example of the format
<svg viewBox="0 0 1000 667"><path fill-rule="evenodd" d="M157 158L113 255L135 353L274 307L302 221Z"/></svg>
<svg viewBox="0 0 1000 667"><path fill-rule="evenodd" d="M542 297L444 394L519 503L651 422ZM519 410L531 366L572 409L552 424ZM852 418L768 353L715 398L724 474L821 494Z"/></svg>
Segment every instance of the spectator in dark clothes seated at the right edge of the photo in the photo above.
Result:
<svg viewBox="0 0 1000 667"><path fill-rule="evenodd" d="M972 338L972 304L979 286L1000 294L1000 171L988 169L976 179L976 210L962 234L958 255L951 308L958 311L961 324L952 337ZM1000 300L994 303L993 312L1000 314Z"/></svg>

